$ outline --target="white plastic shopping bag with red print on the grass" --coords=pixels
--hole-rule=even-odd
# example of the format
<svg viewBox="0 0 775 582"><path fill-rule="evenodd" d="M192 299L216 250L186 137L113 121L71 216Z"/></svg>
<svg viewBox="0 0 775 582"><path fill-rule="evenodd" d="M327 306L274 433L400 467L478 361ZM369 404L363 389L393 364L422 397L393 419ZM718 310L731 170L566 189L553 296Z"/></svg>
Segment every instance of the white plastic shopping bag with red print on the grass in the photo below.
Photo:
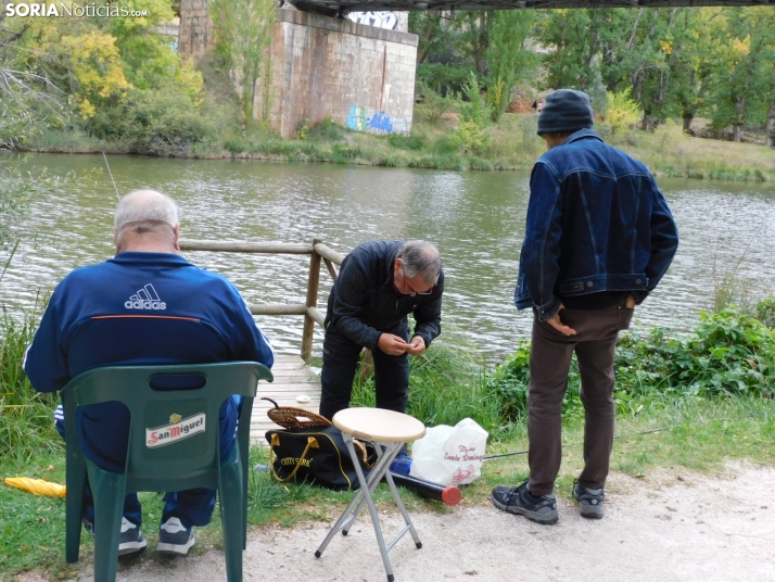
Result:
<svg viewBox="0 0 775 582"><path fill-rule="evenodd" d="M440 485L465 485L482 475L487 431L463 418L450 427L431 427L411 447L409 475Z"/></svg>

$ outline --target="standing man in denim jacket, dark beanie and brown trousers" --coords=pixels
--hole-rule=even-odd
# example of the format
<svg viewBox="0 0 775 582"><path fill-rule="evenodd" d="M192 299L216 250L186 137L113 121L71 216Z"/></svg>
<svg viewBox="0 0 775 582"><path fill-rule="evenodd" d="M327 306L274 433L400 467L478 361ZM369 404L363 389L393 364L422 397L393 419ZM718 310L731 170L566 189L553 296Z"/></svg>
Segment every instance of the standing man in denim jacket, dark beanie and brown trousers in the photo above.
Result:
<svg viewBox="0 0 775 582"><path fill-rule="evenodd" d="M497 486L493 503L556 523L562 398L573 352L585 409L584 469L573 484L581 515L601 518L613 447L613 357L619 331L657 287L678 245L664 197L648 168L592 130L586 93L546 98L533 166L514 303L533 308L528 395L530 478Z"/></svg>

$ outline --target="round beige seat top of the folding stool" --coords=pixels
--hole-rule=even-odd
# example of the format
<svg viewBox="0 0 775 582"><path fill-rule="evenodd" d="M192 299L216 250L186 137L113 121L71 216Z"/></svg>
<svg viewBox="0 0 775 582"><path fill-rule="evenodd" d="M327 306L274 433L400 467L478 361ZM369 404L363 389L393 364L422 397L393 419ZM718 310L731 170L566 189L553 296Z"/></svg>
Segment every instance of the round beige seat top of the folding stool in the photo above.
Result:
<svg viewBox="0 0 775 582"><path fill-rule="evenodd" d="M408 443L425 435L417 418L383 408L345 408L333 415L333 426L364 441Z"/></svg>

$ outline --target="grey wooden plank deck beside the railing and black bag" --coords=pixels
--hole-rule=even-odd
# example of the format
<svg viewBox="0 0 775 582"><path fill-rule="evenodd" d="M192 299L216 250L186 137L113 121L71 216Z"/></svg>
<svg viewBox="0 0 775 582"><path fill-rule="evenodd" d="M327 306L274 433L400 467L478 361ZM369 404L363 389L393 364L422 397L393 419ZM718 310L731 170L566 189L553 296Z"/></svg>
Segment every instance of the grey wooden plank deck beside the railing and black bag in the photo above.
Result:
<svg viewBox="0 0 775 582"><path fill-rule="evenodd" d="M251 442L266 445L264 434L267 430L280 428L269 420L266 412L274 405L265 400L274 400L280 406L295 406L317 413L320 407L320 379L301 356L279 355L271 367L274 382L258 382L258 392L253 402L251 418ZM298 396L308 396L308 403L300 403Z"/></svg>

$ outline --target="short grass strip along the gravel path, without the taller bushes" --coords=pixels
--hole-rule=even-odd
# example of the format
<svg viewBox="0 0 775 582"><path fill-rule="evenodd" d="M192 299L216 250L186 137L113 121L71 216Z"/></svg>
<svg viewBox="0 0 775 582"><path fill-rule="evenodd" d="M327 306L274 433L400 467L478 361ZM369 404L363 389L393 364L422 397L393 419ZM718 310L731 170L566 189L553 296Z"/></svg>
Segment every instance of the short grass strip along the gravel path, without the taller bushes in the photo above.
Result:
<svg viewBox="0 0 775 582"><path fill-rule="evenodd" d="M734 397L709 401L687 397L674 403L644 400L636 415L619 415L618 439L613 446L611 470L631 477L649 476L664 469L722 473L727 461L747 459L775 465L775 401ZM643 431L669 429L637 434ZM583 420L575 415L563 428L562 468L557 483L559 496L570 497L573 478L582 463ZM524 451L528 438L524 423L514 422L500 436L491 436L487 454ZM250 467L268 460L266 447L254 447ZM53 469L49 470L49 466ZM64 456L53 455L21 463L0 461L0 475L48 478L64 482ZM490 490L499 484L516 484L528 476L528 456L520 454L484 461L482 478L463 490L463 506L487 502ZM280 484L270 475L251 472L249 523L254 527L293 527L309 521L331 522L352 493L333 492L305 484ZM405 492L410 513L447 513L452 509L439 502L423 499ZM143 519L149 547L156 543L156 524L162 509L161 497L141 494ZM389 509L390 493L384 484L376 494L377 505ZM0 486L0 573L36 569L49 578L73 578L85 572L91 562L93 544L82 536L81 560L64 561L64 499L36 497L8 486ZM213 523L198 528L198 543L192 555L203 555L209 548L220 548L223 536L216 509ZM127 564L166 564L168 559L145 552ZM124 561L123 561L124 564Z"/></svg>

